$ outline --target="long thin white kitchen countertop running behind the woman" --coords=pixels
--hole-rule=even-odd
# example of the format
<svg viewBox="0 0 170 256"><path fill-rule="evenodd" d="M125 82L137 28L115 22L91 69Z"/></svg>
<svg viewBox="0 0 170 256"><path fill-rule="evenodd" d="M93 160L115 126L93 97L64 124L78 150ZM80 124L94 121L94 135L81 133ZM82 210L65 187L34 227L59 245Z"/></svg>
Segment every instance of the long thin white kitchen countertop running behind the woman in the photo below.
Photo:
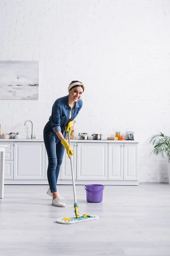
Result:
<svg viewBox="0 0 170 256"><path fill-rule="evenodd" d="M18 141L18 142L43 142L43 139L0 139L0 142L6 141L6 142L13 142L13 141ZM139 143L139 141L137 140L71 140L71 142L81 142L81 143L85 143L85 142L93 142L93 143Z"/></svg>

